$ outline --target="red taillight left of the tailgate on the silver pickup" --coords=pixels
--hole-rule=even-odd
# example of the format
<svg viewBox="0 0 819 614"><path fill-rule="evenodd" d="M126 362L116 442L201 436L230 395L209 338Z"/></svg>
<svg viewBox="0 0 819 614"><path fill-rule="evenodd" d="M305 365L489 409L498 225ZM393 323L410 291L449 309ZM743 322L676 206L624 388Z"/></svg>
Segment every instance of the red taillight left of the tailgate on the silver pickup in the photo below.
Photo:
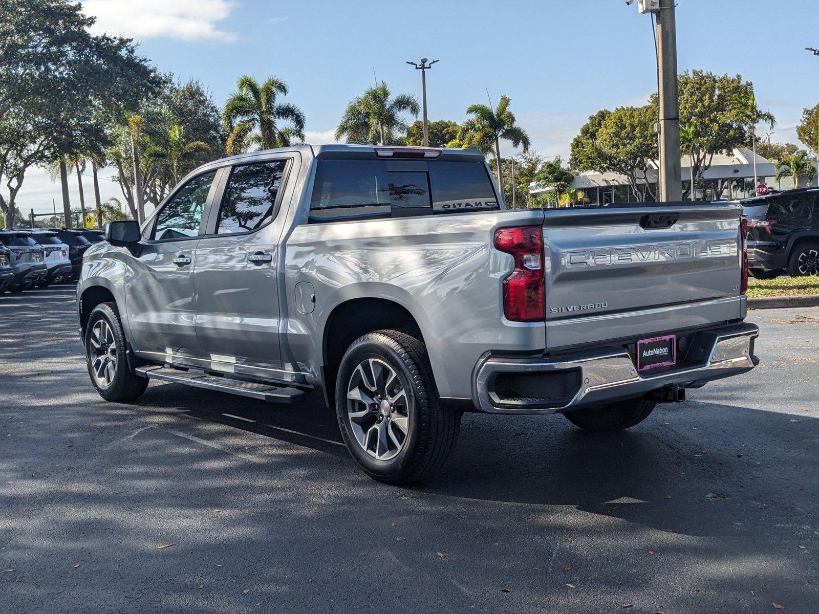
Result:
<svg viewBox="0 0 819 614"><path fill-rule="evenodd" d="M504 279L504 314L514 322L545 318L543 234L540 226L499 228L495 249L514 257L514 271Z"/></svg>

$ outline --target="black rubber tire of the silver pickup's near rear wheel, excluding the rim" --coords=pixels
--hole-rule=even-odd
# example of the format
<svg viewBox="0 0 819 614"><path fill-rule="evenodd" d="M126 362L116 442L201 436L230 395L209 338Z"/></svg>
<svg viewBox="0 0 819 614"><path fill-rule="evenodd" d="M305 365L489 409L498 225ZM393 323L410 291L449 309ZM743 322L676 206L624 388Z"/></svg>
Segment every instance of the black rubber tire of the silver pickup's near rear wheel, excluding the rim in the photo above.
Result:
<svg viewBox="0 0 819 614"><path fill-rule="evenodd" d="M396 445L394 440L389 442L396 445L396 455L384 460L374 455L378 452L379 431L375 431L373 441L376 450L369 453L365 449L369 441L369 430L375 425L367 427L369 430L364 435L364 444L360 443L354 431L350 411L367 408L368 405L361 401L349 401L347 398L354 372L370 359L376 359L391 368L397 384L405 391L405 403L399 408L399 402L396 401L395 413L390 413L392 409L383 409L380 405L379 409L373 410L373 420L378 419L379 424L381 420L386 420L387 431L391 429L391 416L403 418L402 413L405 412L408 418L405 421L408 425L406 435L400 445ZM378 387L378 374L372 371L372 363L370 369L373 384ZM396 380L388 380L387 383ZM388 393L384 396L387 397ZM352 409L348 409L348 403ZM382 411L386 413L382 415ZM410 484L440 469L455 449L461 420L461 412L442 405L438 398L427 348L414 336L391 330L360 336L347 349L338 368L336 413L344 443L356 463L370 477L388 484ZM393 422L397 422L395 418ZM364 430L361 424L356 424ZM387 440L387 436L384 440Z"/></svg>

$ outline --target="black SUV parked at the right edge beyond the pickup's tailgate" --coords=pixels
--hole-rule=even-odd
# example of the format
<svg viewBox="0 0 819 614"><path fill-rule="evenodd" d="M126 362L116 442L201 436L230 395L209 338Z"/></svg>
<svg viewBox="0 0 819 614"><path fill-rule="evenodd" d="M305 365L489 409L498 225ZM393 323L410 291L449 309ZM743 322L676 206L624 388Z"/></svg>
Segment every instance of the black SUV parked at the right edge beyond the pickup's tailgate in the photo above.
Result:
<svg viewBox="0 0 819 614"><path fill-rule="evenodd" d="M819 187L740 201L748 221L748 264L758 279L819 274Z"/></svg>

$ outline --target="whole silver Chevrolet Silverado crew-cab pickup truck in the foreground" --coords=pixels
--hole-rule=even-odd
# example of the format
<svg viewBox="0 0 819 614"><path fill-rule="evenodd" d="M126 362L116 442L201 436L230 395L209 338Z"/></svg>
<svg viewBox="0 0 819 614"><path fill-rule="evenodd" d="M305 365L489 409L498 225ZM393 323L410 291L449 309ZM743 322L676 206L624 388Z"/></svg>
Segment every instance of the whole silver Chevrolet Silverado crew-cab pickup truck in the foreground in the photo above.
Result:
<svg viewBox="0 0 819 614"><path fill-rule="evenodd" d="M441 467L464 411L612 431L758 363L737 205L505 210L477 151L346 145L201 166L77 287L93 386L324 395L380 481Z"/></svg>

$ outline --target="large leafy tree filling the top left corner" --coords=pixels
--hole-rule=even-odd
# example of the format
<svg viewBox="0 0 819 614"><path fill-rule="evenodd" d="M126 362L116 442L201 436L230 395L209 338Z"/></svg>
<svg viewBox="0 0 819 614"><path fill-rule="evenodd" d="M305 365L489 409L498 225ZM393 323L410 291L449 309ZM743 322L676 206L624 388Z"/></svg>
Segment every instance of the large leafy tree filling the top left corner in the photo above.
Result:
<svg viewBox="0 0 819 614"><path fill-rule="evenodd" d="M96 121L112 100L142 97L156 74L129 39L93 36L93 18L63 0L0 2L0 210L33 165L98 148ZM67 203L66 203L67 204Z"/></svg>

